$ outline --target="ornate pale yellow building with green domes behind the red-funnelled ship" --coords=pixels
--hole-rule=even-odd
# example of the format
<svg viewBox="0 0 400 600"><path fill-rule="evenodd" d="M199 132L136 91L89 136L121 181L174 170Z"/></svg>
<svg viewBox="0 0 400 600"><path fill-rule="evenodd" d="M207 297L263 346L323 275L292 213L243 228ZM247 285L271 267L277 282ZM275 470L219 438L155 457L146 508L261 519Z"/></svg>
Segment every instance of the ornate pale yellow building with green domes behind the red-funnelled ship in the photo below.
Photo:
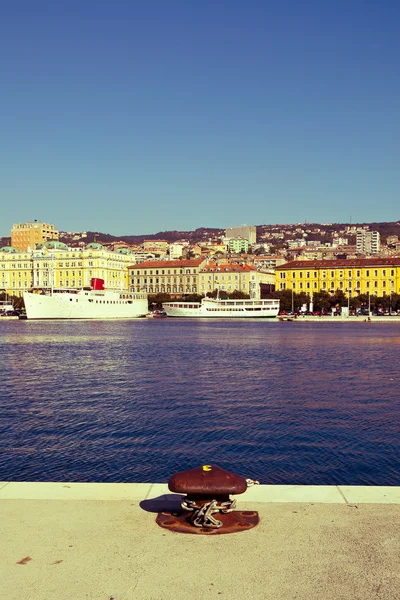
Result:
<svg viewBox="0 0 400 600"><path fill-rule="evenodd" d="M62 242L42 242L33 252L0 248L0 290L22 296L30 288L79 289L90 286L92 277L104 279L106 289L128 290L128 265L132 251L106 250L97 243L69 248Z"/></svg>

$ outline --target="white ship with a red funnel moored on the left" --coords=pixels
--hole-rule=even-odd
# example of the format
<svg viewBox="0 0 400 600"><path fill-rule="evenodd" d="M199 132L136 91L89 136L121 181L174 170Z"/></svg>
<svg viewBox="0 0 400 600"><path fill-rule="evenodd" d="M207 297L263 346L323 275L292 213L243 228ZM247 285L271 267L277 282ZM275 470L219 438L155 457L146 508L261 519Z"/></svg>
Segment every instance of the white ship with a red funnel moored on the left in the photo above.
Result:
<svg viewBox="0 0 400 600"><path fill-rule="evenodd" d="M25 292L24 302L27 319L134 319L148 312L147 293L105 290L98 278L81 290Z"/></svg>

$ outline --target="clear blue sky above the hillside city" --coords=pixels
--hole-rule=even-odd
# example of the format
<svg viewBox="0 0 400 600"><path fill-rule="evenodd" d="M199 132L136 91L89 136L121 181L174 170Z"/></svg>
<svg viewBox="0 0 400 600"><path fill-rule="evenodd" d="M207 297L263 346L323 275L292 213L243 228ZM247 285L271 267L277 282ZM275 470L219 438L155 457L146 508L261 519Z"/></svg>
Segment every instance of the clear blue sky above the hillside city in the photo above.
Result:
<svg viewBox="0 0 400 600"><path fill-rule="evenodd" d="M400 218L396 0L0 5L0 235Z"/></svg>

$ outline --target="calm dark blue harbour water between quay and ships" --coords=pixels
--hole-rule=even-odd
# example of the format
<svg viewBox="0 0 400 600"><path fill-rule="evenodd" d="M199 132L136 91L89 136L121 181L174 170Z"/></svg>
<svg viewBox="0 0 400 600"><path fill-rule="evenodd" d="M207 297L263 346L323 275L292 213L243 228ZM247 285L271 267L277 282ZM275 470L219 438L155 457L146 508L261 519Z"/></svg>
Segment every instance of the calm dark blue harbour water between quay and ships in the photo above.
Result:
<svg viewBox="0 0 400 600"><path fill-rule="evenodd" d="M400 485L400 324L0 322L0 480Z"/></svg>

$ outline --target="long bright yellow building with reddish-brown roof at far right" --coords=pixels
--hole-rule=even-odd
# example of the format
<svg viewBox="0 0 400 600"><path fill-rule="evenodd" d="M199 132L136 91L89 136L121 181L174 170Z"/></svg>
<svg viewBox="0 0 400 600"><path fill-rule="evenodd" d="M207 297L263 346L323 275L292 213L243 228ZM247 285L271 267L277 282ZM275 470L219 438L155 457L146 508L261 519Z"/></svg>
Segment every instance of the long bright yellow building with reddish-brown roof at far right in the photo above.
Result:
<svg viewBox="0 0 400 600"><path fill-rule="evenodd" d="M297 260L275 269L277 290L371 294L386 296L400 293L400 256L397 258L365 258L343 260Z"/></svg>

